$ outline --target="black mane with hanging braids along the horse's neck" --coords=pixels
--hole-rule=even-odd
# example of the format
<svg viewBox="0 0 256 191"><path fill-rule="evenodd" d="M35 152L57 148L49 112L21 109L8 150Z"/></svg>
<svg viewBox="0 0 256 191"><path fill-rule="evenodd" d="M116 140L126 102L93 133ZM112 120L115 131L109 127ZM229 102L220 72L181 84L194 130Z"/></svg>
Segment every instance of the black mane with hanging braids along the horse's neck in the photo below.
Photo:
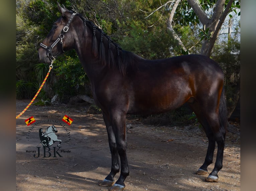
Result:
<svg viewBox="0 0 256 191"><path fill-rule="evenodd" d="M112 39L106 35L99 27L97 27L92 21L84 18L81 14L77 14L84 22L85 30L89 28L93 33L92 39L92 51L95 57L99 56L103 65L107 65L109 68L119 68L120 73L125 75L127 67L133 66L135 60L141 60L142 58L132 52L122 50L122 48ZM85 31L86 34L86 31ZM99 35L100 34L100 35ZM103 40L108 40L108 46L106 47ZM100 41L100 46L98 42ZM105 40L104 40L105 41ZM113 48L116 49L116 56L114 56ZM117 58L116 58L117 57Z"/></svg>

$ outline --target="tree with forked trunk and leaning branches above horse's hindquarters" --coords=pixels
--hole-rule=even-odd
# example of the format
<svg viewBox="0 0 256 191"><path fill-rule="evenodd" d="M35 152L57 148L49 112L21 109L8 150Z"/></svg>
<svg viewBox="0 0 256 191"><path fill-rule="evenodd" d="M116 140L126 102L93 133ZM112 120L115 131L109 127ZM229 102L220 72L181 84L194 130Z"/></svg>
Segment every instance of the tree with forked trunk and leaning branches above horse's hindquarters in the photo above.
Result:
<svg viewBox="0 0 256 191"><path fill-rule="evenodd" d="M176 0L167 1L155 11L162 7L165 8L167 4L171 5L167 9L170 10L170 15L167 21L166 29L172 38L176 40L176 44L181 47L184 52L187 52L187 48L172 27L175 15L178 19L184 17L184 19L181 20L183 25L190 23L193 26L195 23L199 24L200 22L203 26L203 28L200 30L201 40L203 41L200 54L208 57L211 55L212 49L227 15L232 11L236 11L236 9L240 9L240 0L236 2L235 0ZM176 10L178 11L176 12ZM150 15L152 15L155 11L153 11ZM238 15L240 15L240 12Z"/></svg>

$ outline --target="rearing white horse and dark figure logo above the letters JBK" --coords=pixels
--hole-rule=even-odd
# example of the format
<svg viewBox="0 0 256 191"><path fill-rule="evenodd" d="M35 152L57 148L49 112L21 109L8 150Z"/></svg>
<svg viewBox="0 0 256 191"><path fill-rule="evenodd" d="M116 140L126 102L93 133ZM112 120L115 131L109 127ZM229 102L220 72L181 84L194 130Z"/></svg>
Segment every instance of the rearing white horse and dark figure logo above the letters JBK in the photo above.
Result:
<svg viewBox="0 0 256 191"><path fill-rule="evenodd" d="M45 133L43 133L42 128L39 129L39 138L43 147L49 147L56 141L59 141L57 146L60 145L61 140L58 139L57 135L55 134L56 132L58 132L58 130L54 125L47 127Z"/></svg>

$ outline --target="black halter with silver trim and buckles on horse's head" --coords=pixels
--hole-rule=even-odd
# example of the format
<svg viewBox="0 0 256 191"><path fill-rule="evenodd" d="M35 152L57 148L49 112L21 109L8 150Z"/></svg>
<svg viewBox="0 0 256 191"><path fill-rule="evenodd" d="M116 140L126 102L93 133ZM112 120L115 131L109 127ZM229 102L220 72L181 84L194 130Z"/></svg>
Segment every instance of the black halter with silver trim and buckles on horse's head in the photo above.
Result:
<svg viewBox="0 0 256 191"><path fill-rule="evenodd" d="M48 50L51 61L54 61L54 60L55 60L55 57L60 54L60 53L58 53L58 54L55 55L55 56L52 55L52 49L53 49L53 47L54 47L58 42L61 44L62 53L65 52L65 51L63 50L63 42L62 42L62 39L64 38L64 34L68 32L68 30L69 30L69 25L70 25L70 23L71 23L71 21L73 20L73 18L74 18L75 15L76 15L76 13L73 13L73 14L71 15L71 17L69 18L69 22L68 22L67 25L62 29L61 34L59 35L59 37L57 38L57 40L56 40L51 46L48 47L48 46L44 45L43 43L40 43L40 46L41 46L41 47L43 47L44 49Z"/></svg>

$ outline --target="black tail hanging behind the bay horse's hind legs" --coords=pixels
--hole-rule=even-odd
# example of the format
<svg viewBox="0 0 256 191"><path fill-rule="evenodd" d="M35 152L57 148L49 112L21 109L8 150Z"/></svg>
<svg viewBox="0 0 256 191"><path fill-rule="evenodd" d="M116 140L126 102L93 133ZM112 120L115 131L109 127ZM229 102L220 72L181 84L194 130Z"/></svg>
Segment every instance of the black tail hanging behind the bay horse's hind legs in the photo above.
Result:
<svg viewBox="0 0 256 191"><path fill-rule="evenodd" d="M223 127L227 131L228 111L227 111L224 86L221 92L221 99L220 99L220 106L219 106L219 119L220 119L221 127Z"/></svg>

